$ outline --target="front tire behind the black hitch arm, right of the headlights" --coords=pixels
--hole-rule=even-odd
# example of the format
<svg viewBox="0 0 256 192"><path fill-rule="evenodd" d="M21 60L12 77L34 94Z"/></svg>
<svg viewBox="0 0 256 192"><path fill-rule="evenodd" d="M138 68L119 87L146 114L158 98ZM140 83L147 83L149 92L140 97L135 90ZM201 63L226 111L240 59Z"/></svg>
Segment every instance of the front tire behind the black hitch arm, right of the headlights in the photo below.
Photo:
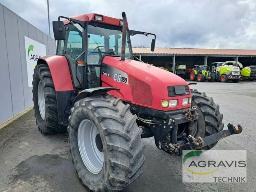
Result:
<svg viewBox="0 0 256 192"><path fill-rule="evenodd" d="M216 105L212 97L208 97L205 92L198 92L196 89L192 92L192 106L197 107L199 118L197 120L197 130L195 138L207 137L223 130L223 115L220 113L220 106ZM205 146L203 149L213 148L217 142Z"/></svg>

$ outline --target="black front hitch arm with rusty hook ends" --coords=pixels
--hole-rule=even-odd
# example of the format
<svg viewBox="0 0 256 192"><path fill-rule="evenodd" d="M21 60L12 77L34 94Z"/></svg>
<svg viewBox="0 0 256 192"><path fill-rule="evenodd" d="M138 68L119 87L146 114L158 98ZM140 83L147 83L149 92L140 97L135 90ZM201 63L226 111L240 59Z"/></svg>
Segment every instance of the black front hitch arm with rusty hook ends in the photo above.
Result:
<svg viewBox="0 0 256 192"><path fill-rule="evenodd" d="M239 134L243 131L243 127L241 125L237 125L237 128L233 124L228 124L228 130L223 130L212 134L210 136L201 138L198 137L197 139L192 135L189 135L187 143L183 144L169 144L170 146L170 154L172 155L182 155L182 150L194 150L194 149L201 149L205 146L211 145L221 139L224 139L233 134Z"/></svg>

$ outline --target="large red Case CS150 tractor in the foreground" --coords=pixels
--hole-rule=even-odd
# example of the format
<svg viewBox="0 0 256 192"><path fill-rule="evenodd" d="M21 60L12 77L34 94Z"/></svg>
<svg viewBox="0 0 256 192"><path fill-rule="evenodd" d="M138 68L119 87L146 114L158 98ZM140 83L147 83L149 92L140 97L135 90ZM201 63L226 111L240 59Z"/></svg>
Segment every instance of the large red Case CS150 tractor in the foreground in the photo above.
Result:
<svg viewBox="0 0 256 192"><path fill-rule="evenodd" d="M123 19L100 14L53 21L56 55L34 69L36 123L43 134L68 130L74 166L92 191L119 191L142 173L144 144L171 155L210 149L239 133L222 131L219 105L191 90L179 76L133 60L130 36L155 34L128 29ZM63 18L65 20L60 20Z"/></svg>

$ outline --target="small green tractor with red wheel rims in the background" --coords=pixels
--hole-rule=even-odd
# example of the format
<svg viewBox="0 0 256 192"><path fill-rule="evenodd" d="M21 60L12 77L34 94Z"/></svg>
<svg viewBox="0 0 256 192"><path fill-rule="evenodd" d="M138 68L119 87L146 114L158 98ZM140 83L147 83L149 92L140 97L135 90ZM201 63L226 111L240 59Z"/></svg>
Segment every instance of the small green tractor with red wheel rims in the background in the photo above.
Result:
<svg viewBox="0 0 256 192"><path fill-rule="evenodd" d="M215 80L214 73L210 72L210 67L205 65L195 65L195 68L190 73L190 80L191 81L204 82L208 80L209 82L213 82Z"/></svg>

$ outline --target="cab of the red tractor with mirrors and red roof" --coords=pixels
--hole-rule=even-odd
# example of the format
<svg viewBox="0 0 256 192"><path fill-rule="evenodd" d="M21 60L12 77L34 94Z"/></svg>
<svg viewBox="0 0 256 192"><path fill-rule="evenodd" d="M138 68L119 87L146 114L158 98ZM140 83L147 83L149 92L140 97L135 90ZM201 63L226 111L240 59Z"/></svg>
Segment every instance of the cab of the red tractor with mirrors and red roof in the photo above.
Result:
<svg viewBox="0 0 256 192"><path fill-rule="evenodd" d="M61 21L61 18L65 20ZM53 21L57 55L67 58L75 90L100 87L101 60L105 56L121 57L122 41L125 44L124 58L133 59L130 36L153 35L151 50L154 51L155 34L129 30L128 24L124 30L125 33L122 32L122 19L96 13L72 18L60 16L58 21Z"/></svg>

